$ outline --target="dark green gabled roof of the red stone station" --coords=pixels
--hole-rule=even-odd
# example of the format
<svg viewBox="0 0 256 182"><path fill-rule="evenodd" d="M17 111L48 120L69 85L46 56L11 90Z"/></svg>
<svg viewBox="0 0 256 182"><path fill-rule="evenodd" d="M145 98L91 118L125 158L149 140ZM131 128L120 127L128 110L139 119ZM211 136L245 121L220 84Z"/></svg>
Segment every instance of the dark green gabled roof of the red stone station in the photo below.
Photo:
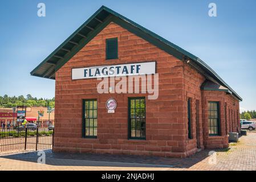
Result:
<svg viewBox="0 0 256 182"><path fill-rule="evenodd" d="M165 52L170 53L174 57L177 57L177 59L187 61L189 65L204 75L208 80L225 86L230 90L231 94L242 101L242 98L238 96L238 94L235 93L212 68L204 63L204 61L105 6L101 6L99 10L97 10L78 28L78 30L46 57L46 59L43 60L30 74L32 76L55 79L55 72L111 22L119 24L119 26L140 36Z"/></svg>

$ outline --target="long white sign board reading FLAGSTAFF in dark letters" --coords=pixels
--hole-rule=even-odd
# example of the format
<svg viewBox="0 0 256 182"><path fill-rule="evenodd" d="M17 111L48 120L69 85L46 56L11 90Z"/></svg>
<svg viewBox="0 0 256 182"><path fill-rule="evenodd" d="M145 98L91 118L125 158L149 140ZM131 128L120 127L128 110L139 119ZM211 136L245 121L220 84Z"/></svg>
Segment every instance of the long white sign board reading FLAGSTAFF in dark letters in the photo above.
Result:
<svg viewBox="0 0 256 182"><path fill-rule="evenodd" d="M156 62L106 65L89 68L72 69L72 80L111 77L135 76L156 73Z"/></svg>

